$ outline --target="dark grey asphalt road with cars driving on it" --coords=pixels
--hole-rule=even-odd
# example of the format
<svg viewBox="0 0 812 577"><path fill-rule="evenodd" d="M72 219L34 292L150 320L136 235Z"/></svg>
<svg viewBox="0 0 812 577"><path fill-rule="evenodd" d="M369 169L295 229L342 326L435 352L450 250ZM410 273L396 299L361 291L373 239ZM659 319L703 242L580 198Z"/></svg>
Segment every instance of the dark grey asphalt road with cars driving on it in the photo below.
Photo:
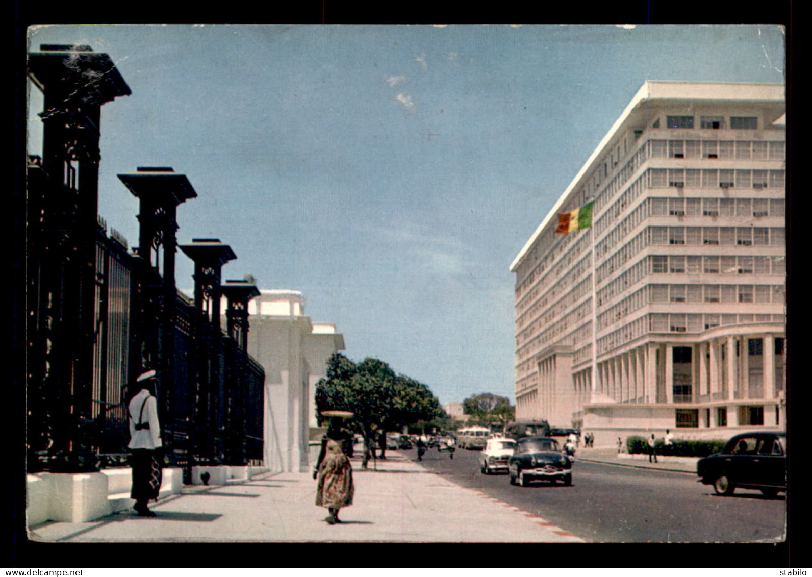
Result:
<svg viewBox="0 0 812 577"><path fill-rule="evenodd" d="M416 451L403 451L417 459ZM582 539L603 543L742 543L784 539L786 500L736 489L715 495L696 475L575 462L572 487L512 486L507 473L483 475L479 451L430 449L422 464L463 487L538 514Z"/></svg>

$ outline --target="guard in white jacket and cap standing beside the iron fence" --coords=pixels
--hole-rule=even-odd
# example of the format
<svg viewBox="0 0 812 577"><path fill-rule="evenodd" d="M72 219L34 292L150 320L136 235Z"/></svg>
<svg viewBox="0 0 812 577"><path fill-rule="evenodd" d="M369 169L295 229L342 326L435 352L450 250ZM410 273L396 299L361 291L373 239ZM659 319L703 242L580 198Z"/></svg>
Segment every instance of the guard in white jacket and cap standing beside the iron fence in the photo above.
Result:
<svg viewBox="0 0 812 577"><path fill-rule="evenodd" d="M147 504L158 499L162 481L161 426L158 423L158 402L155 401L156 371L146 371L136 379L138 393L127 406L132 452L132 488L130 497L136 500L133 509L140 517L155 517Z"/></svg>

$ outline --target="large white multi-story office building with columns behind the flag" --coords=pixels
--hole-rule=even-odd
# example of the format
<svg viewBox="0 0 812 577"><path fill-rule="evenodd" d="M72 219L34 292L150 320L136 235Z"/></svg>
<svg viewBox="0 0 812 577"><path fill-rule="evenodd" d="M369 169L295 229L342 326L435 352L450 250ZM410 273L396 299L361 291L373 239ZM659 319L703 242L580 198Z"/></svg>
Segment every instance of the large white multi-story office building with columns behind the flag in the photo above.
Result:
<svg viewBox="0 0 812 577"><path fill-rule="evenodd" d="M785 426L784 85L649 81L512 262L516 415ZM594 200L591 228L557 215Z"/></svg>

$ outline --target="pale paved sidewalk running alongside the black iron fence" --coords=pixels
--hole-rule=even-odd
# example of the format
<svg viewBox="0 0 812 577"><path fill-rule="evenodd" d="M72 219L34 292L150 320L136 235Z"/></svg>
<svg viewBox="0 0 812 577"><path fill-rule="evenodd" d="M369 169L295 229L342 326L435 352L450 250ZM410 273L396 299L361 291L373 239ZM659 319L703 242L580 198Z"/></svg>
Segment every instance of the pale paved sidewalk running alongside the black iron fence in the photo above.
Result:
<svg viewBox="0 0 812 577"><path fill-rule="evenodd" d="M598 450L598 449L594 449ZM63 542L584 542L577 536L387 451L361 470L352 460L355 502L343 523L323 521L307 473L279 473L218 486L184 487L152 506L156 518L132 510L89 523L45 523L31 540Z"/></svg>

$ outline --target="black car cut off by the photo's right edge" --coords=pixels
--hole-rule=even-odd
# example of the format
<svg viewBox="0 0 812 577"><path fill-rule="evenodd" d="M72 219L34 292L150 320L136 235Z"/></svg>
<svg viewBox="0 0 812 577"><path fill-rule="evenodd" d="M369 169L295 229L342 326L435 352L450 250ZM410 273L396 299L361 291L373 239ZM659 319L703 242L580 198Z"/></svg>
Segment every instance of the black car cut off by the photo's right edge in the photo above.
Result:
<svg viewBox="0 0 812 577"><path fill-rule="evenodd" d="M699 459L697 475L719 495L736 488L758 489L767 497L787 491L787 434L749 432L733 436L721 453Z"/></svg>

